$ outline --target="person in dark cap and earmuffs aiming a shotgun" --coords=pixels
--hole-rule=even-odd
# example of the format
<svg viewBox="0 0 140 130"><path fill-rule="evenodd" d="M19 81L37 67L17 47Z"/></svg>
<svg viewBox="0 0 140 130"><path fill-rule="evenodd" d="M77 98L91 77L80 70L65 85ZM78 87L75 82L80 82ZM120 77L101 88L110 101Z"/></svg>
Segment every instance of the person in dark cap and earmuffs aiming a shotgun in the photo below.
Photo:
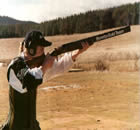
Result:
<svg viewBox="0 0 140 130"><path fill-rule="evenodd" d="M66 53L57 58L44 54L44 48L51 42L45 40L39 31L29 32L21 46L20 56L8 66L9 114L0 130L41 130L36 120L37 87L46 73L48 79L68 71L79 54L88 48L82 44L75 54Z"/></svg>

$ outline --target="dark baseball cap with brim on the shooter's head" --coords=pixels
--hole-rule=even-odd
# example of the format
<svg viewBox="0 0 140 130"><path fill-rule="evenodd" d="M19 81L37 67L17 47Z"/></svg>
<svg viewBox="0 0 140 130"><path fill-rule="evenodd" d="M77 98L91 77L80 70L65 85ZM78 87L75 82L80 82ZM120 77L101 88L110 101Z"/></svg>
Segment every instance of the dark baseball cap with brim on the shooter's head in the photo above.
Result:
<svg viewBox="0 0 140 130"><path fill-rule="evenodd" d="M30 48L30 46L51 46L52 43L45 40L44 36L40 31L33 30L25 36L24 39L25 47Z"/></svg>

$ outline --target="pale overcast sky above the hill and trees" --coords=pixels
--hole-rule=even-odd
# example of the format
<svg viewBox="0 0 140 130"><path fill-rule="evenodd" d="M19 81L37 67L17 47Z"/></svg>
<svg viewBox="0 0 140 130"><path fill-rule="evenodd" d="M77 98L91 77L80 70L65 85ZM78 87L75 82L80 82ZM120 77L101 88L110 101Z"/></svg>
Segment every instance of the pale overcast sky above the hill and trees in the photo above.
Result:
<svg viewBox="0 0 140 130"><path fill-rule="evenodd" d="M40 23L88 10L134 2L140 0L1 0L0 16Z"/></svg>

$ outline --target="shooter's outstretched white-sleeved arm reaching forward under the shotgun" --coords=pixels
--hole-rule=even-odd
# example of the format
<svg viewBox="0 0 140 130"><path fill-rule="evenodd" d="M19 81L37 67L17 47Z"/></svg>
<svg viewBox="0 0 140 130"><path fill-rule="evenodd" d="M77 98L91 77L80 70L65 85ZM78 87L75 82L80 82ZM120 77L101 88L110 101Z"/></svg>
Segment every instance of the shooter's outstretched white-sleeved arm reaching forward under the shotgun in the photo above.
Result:
<svg viewBox="0 0 140 130"><path fill-rule="evenodd" d="M58 60L48 55L48 58L46 57L46 60L41 66L42 72L44 74L46 73L46 78L51 79L63 74L64 72L67 72L73 65L73 62L76 60L78 55L85 52L89 47L87 43L82 43L82 46L83 48L79 49L77 52L65 53L65 55Z"/></svg>

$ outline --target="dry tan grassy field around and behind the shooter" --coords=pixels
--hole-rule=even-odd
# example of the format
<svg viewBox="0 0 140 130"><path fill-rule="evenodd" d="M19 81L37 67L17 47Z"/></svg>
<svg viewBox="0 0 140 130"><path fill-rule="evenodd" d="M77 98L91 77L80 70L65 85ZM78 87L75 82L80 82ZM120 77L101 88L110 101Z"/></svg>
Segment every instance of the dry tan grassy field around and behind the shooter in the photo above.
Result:
<svg viewBox="0 0 140 130"><path fill-rule="evenodd" d="M97 33L48 39L56 47ZM73 66L83 72L68 72L49 81L44 78L37 98L42 130L140 130L139 34L140 26L133 26L131 33L93 45ZM0 61L16 56L22 40L0 39ZM105 71L96 70L98 60L107 66ZM8 114L6 67L0 68L0 77L2 124Z"/></svg>

